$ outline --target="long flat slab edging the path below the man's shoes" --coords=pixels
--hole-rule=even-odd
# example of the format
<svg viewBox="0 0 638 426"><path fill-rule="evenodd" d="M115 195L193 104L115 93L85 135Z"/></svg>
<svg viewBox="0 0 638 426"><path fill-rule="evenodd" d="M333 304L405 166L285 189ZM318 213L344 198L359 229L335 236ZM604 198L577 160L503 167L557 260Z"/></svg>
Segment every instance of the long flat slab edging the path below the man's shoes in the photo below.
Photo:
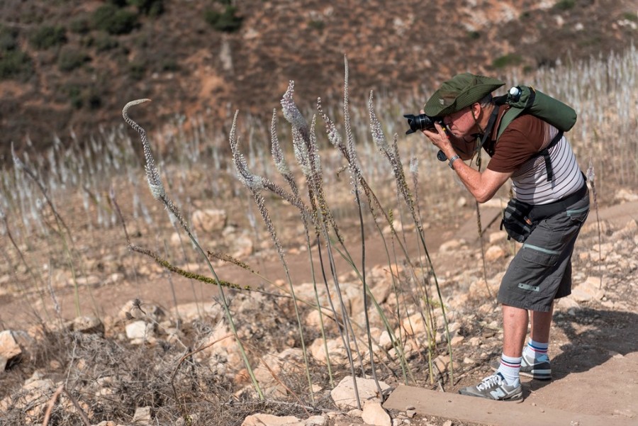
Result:
<svg viewBox="0 0 638 426"><path fill-rule="evenodd" d="M413 386L399 386L384 403L386 410L405 411L414 407L419 415L484 423L492 426L635 426L636 420L570 413L555 408L522 403L506 403L483 398L444 393Z"/></svg>

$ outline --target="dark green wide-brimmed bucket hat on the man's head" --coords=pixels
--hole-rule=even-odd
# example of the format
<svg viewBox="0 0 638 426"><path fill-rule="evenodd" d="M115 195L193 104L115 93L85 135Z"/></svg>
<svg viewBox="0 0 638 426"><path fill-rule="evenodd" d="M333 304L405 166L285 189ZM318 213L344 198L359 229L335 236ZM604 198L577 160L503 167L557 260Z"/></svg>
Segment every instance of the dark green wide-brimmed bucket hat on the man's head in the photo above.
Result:
<svg viewBox="0 0 638 426"><path fill-rule="evenodd" d="M430 117L447 116L481 101L503 85L505 83L491 77L469 72L457 74L441 84L440 89L427 100L423 111Z"/></svg>

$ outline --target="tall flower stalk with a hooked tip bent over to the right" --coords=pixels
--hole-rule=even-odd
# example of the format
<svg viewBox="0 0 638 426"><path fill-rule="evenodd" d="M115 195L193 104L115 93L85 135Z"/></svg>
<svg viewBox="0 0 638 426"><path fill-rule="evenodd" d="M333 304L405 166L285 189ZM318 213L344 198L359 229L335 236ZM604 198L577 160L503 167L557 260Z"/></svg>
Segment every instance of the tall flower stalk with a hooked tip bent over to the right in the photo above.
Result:
<svg viewBox="0 0 638 426"><path fill-rule="evenodd" d="M252 381L252 386L254 386L255 391L257 391L259 398L263 400L264 393L262 393L261 388L259 388L259 383L257 382L257 379L255 379L254 377L254 373L252 371L252 367L250 366L250 361L248 361L248 357L246 355L244 346L240 340L239 335L237 335L237 329L235 327L235 322L233 321L233 315L230 314L230 308L228 307L228 302L226 301L223 286L221 285L221 281L219 277L217 276L215 269L213 269L213 265L211 264L211 261L208 259L208 256L206 256L206 253L203 251L198 241L196 240L194 235L191 233L189 226L186 225L186 221L184 220L181 213L179 212L179 209L177 208L177 206L174 205L174 203L169 198L167 198L166 191L164 191L164 185L162 184L162 179L160 179L159 172L157 171L157 167L155 167L155 160L153 159L152 152L150 149L150 144L147 140L146 131L140 125L138 125L138 123L135 123L135 121L133 121L128 116L128 108L130 108L131 106L138 105L140 103L149 102L149 101L150 99L138 99L135 101L128 102L122 109L122 117L124 118L125 122L128 123L128 125L130 125L135 131L137 131L140 134L142 145L144 147L144 157L146 160L146 164L145 164L146 177L147 177L148 186L150 188L151 194L157 200L162 201L164 206L174 215L175 218L177 218L181 227L184 229L186 234L189 235L189 238L191 239L191 242L193 242L193 245L196 247L198 252L206 261L206 264L208 264L208 269L211 271L211 274L213 274L213 276L215 277L219 295L222 301L222 306L224 308L224 312L226 315L226 320L228 320L228 325L230 327L230 330L233 332L233 335L235 336L237 347L240 349L240 354L241 354L242 360L244 361L244 364L246 366L250 379Z"/></svg>

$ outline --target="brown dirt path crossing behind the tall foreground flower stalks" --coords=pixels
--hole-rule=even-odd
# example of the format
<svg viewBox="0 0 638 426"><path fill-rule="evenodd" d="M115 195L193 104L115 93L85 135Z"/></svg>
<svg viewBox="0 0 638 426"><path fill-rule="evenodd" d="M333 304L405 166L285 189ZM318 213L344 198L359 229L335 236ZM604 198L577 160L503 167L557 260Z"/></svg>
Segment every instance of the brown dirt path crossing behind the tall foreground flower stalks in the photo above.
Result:
<svg viewBox="0 0 638 426"><path fill-rule="evenodd" d="M445 232L440 232L440 230L427 230L426 239L428 247L432 247L432 250L437 250L442 242L454 235L454 232L454 230L447 230ZM414 250L410 250L410 252L416 252L414 232L406 232L406 238L408 239L407 247L414 248ZM388 247L388 250L391 250L391 247ZM360 265L362 259L360 250L352 252L351 255L354 262ZM324 262L327 262L325 250L322 252L322 256ZM347 263L342 257L335 253L334 258L337 271L349 270ZM285 260L289 267L293 283L310 281L311 274L307 251L292 250L286 253ZM320 271L320 260L316 245L313 247L313 262L315 271ZM275 255L271 255L267 258L251 259L248 263L252 269L259 272L259 276L232 264L223 264L220 267L216 267L216 273L220 279L232 281L241 286L263 286L267 289L272 289L273 287L267 284L267 281L262 279L262 276L267 277L267 279L284 278L281 261ZM383 240L381 240L381 237L378 235L371 236L369 240L366 240L366 269L374 265L387 263L387 252L384 248ZM206 274L206 271L201 270L200 272ZM118 310L124 306L127 301L134 298L139 298L145 303L154 303L157 306L168 309L174 306L175 301L177 301L178 304L191 303L194 301L206 303L211 301L217 293L216 286L201 284L199 282L193 283L177 274L163 274L158 279L152 280L139 279L135 281L135 279L131 279L118 282L117 284L106 284L97 287L81 286L79 288L79 300L81 301L83 315L93 313L94 315L103 317L104 315L116 315ZM72 318L74 316L73 289L67 287L56 290L56 298L62 308L62 316L64 318ZM47 309L53 312L54 307L50 298L45 298L44 303ZM33 323L36 318L32 313L32 308L30 308L31 304L39 309L43 302L36 298L35 295L28 297L4 296L0 298L0 305L2 306L0 320L7 328L21 327L24 323ZM98 312L95 312L96 306Z"/></svg>

